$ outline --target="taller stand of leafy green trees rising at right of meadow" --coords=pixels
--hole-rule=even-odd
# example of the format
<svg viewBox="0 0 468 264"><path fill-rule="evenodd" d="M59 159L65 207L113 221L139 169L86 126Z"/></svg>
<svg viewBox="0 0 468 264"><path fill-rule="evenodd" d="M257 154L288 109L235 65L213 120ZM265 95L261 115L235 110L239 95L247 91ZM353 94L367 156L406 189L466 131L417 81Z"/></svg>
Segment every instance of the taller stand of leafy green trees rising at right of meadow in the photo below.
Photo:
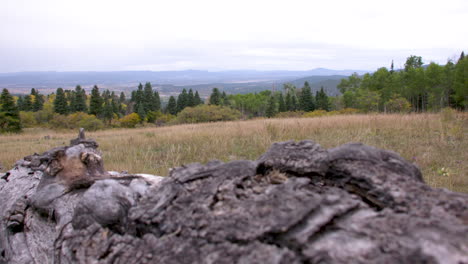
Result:
<svg viewBox="0 0 468 264"><path fill-rule="evenodd" d="M410 56L404 69L379 68L363 76L353 74L341 80L338 89L343 107L363 111L439 111L445 107L468 108L468 58L461 53L456 63L431 62Z"/></svg>

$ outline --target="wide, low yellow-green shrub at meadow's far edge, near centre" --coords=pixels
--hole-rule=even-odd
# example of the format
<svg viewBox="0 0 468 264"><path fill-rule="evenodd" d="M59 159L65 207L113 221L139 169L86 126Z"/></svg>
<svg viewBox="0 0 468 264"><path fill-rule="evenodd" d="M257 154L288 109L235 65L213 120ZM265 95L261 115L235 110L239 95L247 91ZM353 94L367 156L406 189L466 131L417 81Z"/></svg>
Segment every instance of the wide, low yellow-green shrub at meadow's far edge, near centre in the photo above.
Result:
<svg viewBox="0 0 468 264"><path fill-rule="evenodd" d="M179 123L202 123L237 120L241 113L235 109L219 105L198 105L186 107L177 115Z"/></svg>

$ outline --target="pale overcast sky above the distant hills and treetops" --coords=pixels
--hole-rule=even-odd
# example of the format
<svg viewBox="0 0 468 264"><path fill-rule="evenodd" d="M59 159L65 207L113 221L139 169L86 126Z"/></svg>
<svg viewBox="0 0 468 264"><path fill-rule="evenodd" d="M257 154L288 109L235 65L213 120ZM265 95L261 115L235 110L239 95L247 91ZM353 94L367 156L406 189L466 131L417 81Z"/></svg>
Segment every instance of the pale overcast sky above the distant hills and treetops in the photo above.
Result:
<svg viewBox="0 0 468 264"><path fill-rule="evenodd" d="M0 0L0 72L375 70L468 51L466 0Z"/></svg>

